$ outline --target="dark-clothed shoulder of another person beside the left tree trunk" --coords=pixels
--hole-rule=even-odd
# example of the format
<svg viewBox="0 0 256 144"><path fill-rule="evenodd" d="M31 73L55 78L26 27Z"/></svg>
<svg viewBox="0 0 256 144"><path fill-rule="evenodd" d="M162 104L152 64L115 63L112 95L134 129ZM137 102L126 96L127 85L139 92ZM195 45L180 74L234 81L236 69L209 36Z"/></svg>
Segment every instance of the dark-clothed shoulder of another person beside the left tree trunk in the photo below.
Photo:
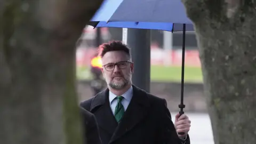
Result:
<svg viewBox="0 0 256 144"><path fill-rule="evenodd" d="M99 136L99 128L96 122L95 116L87 111L84 108L80 108L83 126L85 127L84 131L84 143L87 144L101 144L100 136Z"/></svg>

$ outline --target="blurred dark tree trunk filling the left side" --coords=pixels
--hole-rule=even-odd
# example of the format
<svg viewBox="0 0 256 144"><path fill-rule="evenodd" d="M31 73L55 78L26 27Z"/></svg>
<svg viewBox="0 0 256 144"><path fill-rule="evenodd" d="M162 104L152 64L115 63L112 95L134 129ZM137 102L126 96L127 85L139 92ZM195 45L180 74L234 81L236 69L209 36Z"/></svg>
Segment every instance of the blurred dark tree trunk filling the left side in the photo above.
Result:
<svg viewBox="0 0 256 144"><path fill-rule="evenodd" d="M82 143L75 42L102 0L0 0L0 143Z"/></svg>

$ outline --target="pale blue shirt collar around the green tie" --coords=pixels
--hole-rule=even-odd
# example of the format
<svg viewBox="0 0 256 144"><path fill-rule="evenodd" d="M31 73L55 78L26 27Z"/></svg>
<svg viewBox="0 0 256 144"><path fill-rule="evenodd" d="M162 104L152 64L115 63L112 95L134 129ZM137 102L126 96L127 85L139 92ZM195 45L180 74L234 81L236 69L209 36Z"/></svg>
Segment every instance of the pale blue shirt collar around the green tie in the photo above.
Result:
<svg viewBox="0 0 256 144"><path fill-rule="evenodd" d="M124 106L124 111L127 109L127 107L129 106L129 103L132 99L132 86L130 87L129 90L127 90L124 94L122 95L115 95L114 93L109 91L109 104L110 104L110 108L112 110L112 113L115 114L115 109L116 109L116 105L117 105L117 99L116 97L118 96L123 96L124 99L122 100L122 105Z"/></svg>

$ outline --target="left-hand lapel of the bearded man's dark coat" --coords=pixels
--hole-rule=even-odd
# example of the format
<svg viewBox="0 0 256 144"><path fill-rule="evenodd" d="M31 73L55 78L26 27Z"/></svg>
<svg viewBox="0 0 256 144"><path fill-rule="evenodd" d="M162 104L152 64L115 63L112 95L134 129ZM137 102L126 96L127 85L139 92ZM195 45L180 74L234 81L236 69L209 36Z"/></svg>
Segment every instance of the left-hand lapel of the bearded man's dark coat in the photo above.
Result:
<svg viewBox="0 0 256 144"><path fill-rule="evenodd" d="M95 96L90 111L95 115L99 127L112 135L117 127L117 122L110 109L108 95L109 90L106 89Z"/></svg>

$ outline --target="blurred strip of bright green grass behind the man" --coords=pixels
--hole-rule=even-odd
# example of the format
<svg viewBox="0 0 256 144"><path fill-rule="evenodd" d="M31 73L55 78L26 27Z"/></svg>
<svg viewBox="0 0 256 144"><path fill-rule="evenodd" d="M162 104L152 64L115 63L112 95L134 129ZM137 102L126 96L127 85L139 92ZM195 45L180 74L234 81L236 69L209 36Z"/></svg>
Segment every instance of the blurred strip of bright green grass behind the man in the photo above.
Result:
<svg viewBox="0 0 256 144"><path fill-rule="evenodd" d="M181 67L151 66L151 81L181 82ZM77 67L78 79L90 79L91 74L86 67ZM198 67L185 67L185 82L201 83L202 71Z"/></svg>

